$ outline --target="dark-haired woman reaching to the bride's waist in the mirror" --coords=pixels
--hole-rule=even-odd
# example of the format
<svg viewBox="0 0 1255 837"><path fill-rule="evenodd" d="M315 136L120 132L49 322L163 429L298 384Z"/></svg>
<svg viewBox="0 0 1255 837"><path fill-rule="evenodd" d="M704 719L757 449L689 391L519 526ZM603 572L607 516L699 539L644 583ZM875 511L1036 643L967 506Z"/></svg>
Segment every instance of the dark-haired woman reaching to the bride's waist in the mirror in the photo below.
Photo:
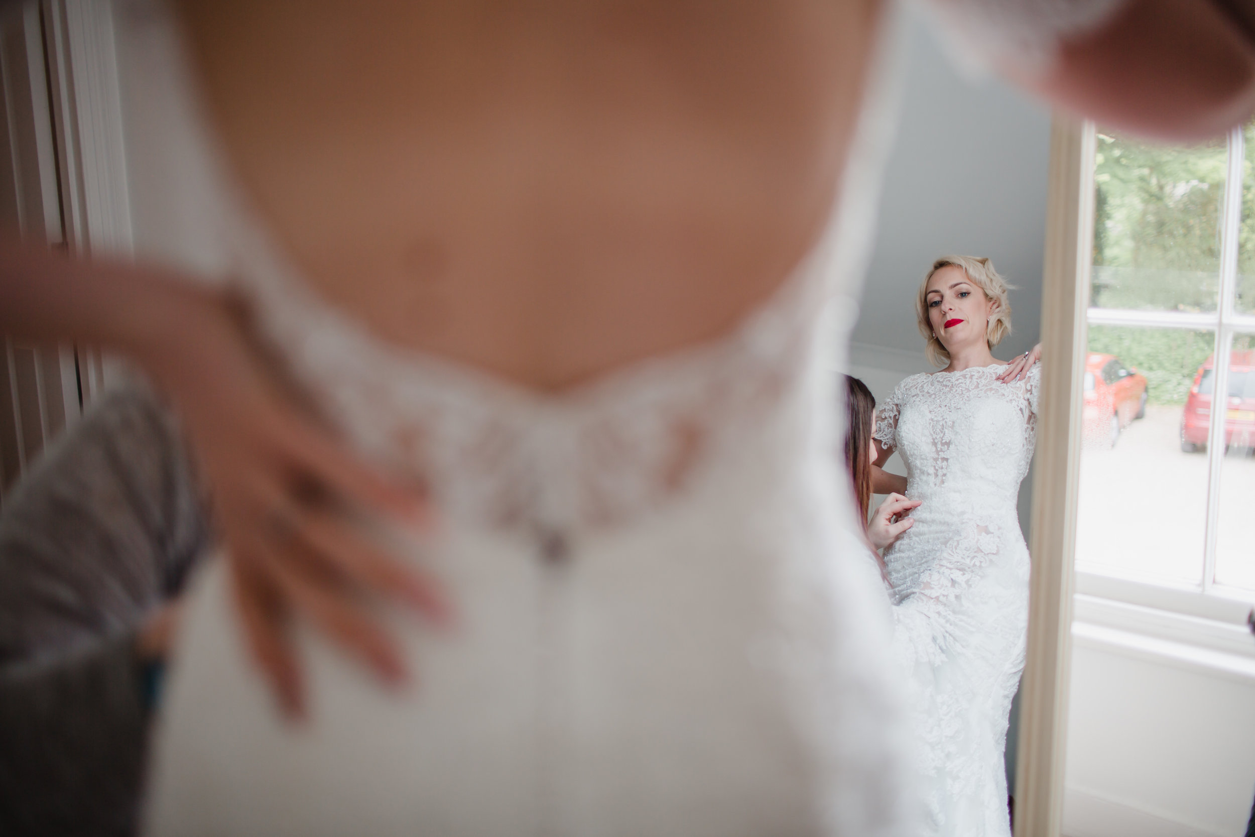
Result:
<svg viewBox="0 0 1255 837"><path fill-rule="evenodd" d="M867 389L867 384L853 375L842 378L846 379L846 469L850 472L851 488L858 504L858 520L863 522L867 541L878 551L887 548L915 525L909 513L919 507L920 501L907 499L891 489L889 497L868 520L871 494L875 488L882 484L896 486L899 482L905 488L906 479L881 471L880 466L875 464L878 454L872 442L876 432L876 397ZM876 560L880 562L878 552Z"/></svg>

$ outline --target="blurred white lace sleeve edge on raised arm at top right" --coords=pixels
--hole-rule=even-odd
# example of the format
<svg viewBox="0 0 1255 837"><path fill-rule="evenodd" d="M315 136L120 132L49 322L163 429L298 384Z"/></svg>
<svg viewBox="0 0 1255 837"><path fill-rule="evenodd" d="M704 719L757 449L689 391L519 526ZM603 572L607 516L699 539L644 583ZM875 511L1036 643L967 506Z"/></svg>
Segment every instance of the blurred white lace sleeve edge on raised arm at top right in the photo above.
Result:
<svg viewBox="0 0 1255 837"><path fill-rule="evenodd" d="M1127 0L917 0L968 69L1014 67L1039 75L1059 43L1098 29Z"/></svg>

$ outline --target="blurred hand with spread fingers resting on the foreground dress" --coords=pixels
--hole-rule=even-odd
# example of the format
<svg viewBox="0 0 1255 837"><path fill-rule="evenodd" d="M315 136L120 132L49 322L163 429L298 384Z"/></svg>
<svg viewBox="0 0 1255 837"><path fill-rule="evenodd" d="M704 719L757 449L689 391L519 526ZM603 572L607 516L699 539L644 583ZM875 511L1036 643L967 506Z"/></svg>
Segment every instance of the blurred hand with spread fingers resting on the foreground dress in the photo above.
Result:
<svg viewBox="0 0 1255 837"><path fill-rule="evenodd" d="M208 477L243 632L284 710L304 712L292 617L311 620L387 681L405 676L364 596L400 599L437 624L434 578L385 552L364 523L415 525L424 499L360 463L281 394L228 306L184 311L178 345L139 358L173 399Z"/></svg>

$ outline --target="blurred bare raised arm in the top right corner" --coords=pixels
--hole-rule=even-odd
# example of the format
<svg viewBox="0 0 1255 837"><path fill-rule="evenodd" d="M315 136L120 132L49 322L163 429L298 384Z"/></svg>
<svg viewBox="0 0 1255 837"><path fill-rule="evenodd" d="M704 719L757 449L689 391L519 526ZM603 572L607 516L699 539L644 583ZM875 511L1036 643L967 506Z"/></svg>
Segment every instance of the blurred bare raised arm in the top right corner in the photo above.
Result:
<svg viewBox="0 0 1255 837"><path fill-rule="evenodd" d="M1045 73L1003 69L1103 125L1209 139L1255 112L1255 4L1126 0L1097 29L1064 39Z"/></svg>

